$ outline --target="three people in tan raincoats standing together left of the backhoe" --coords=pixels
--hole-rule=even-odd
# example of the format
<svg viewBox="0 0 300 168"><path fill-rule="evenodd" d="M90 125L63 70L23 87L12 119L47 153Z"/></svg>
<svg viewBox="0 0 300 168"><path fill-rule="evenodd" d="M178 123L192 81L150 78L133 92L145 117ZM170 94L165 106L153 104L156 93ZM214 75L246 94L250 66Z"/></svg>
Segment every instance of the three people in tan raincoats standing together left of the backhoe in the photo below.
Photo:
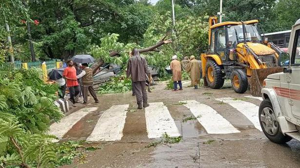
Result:
<svg viewBox="0 0 300 168"><path fill-rule="evenodd" d="M201 63L195 58L195 56L190 56L190 59L187 56L185 56L183 60L180 62L177 56L175 55L172 57L170 68L173 74L173 82L174 82L173 91L182 90L181 69L190 73L192 86L194 86L194 89L198 89L198 84L200 84L200 77L201 77L201 73L200 73ZM179 89L177 85L179 85Z"/></svg>

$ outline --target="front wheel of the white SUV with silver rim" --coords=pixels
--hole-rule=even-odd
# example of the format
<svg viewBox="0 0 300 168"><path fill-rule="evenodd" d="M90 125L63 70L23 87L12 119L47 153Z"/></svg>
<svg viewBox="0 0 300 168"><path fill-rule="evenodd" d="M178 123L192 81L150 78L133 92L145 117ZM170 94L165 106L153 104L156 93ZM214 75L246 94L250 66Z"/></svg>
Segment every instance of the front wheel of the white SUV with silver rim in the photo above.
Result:
<svg viewBox="0 0 300 168"><path fill-rule="evenodd" d="M261 102L259 118L263 133L272 142L284 144L292 139L291 137L282 134L270 99L264 99Z"/></svg>

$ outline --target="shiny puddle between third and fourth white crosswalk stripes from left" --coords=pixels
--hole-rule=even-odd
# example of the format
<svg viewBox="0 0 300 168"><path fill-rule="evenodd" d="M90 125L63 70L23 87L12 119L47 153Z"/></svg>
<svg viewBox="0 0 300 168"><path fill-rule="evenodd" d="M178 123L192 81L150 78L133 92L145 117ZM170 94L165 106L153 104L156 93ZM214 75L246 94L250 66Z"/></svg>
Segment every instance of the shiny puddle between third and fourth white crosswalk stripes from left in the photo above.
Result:
<svg viewBox="0 0 300 168"><path fill-rule="evenodd" d="M175 121L175 124L183 138L198 138L207 135L205 129L197 120Z"/></svg>

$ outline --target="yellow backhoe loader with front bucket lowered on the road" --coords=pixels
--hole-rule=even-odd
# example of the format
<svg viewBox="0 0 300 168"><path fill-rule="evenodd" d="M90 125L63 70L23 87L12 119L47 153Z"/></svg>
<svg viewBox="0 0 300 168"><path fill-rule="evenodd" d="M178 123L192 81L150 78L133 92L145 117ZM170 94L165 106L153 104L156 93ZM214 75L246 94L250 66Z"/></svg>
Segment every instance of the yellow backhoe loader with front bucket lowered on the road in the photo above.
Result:
<svg viewBox="0 0 300 168"><path fill-rule="evenodd" d="M201 54L204 86L220 89L231 79L236 93L260 96L263 79L282 72L277 65L280 49L260 36L258 20L217 23L209 19L209 49Z"/></svg>

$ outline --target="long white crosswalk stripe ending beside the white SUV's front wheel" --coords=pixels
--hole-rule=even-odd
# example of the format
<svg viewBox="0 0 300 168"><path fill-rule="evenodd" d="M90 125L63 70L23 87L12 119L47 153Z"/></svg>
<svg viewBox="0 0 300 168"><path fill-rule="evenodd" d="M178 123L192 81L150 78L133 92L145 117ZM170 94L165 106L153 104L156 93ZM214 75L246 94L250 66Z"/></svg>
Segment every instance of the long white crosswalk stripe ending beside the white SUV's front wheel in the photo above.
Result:
<svg viewBox="0 0 300 168"><path fill-rule="evenodd" d="M233 108L240 111L253 123L256 129L262 131L259 120L259 107L257 105L246 101L234 100L231 97L216 98L216 100L223 101L224 103L227 103Z"/></svg>

